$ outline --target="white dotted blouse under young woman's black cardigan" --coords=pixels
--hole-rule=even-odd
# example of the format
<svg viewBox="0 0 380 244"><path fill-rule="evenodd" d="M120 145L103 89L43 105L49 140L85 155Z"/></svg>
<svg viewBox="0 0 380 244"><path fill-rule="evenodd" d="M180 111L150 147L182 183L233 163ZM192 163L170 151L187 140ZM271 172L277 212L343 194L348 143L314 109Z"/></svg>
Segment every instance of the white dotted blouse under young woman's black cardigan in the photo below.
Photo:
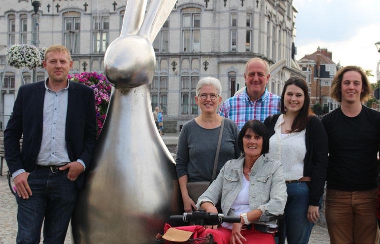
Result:
<svg viewBox="0 0 380 244"><path fill-rule="evenodd" d="M305 132L281 133L284 123L281 114L274 126L274 134L269 140L268 158L278 160L282 163L285 180L297 180L303 177L303 159L306 154Z"/></svg>

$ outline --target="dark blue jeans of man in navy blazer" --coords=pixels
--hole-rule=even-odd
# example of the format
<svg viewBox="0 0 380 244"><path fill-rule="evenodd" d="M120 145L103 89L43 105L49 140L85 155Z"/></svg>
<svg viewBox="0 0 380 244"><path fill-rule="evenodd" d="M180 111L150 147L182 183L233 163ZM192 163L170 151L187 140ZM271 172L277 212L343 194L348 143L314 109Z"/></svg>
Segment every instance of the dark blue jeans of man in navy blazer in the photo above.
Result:
<svg viewBox="0 0 380 244"><path fill-rule="evenodd" d="M17 243L40 243L44 217L44 243L64 243L77 199L75 181L67 178L67 171L34 170L28 183L32 190L29 199L16 194Z"/></svg>

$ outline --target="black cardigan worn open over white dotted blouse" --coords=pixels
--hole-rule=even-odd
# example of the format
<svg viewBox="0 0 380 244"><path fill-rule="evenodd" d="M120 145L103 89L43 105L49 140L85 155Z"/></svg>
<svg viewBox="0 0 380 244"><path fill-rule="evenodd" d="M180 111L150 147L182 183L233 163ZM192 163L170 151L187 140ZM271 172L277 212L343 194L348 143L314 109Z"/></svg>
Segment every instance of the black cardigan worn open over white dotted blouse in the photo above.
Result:
<svg viewBox="0 0 380 244"><path fill-rule="evenodd" d="M269 137L274 134L274 126L280 114L269 116L264 124L269 130ZM306 154L303 159L303 176L310 176L311 183L309 205L320 206L327 172L328 140L322 122L311 116L305 132Z"/></svg>

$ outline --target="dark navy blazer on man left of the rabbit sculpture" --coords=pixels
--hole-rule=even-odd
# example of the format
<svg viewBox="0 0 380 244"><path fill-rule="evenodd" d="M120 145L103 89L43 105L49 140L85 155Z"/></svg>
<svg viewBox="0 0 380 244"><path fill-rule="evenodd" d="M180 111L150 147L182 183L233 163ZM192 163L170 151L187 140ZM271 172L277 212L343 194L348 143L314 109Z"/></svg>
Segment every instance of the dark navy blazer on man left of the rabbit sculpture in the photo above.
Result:
<svg viewBox="0 0 380 244"><path fill-rule="evenodd" d="M83 84L70 82L66 115L66 145L69 159L82 159L89 167L96 144L94 91ZM4 131L5 158L11 173L19 169L34 170L42 141L45 81L21 86L13 114ZM23 147L20 151L20 138ZM77 179L83 185L83 174Z"/></svg>

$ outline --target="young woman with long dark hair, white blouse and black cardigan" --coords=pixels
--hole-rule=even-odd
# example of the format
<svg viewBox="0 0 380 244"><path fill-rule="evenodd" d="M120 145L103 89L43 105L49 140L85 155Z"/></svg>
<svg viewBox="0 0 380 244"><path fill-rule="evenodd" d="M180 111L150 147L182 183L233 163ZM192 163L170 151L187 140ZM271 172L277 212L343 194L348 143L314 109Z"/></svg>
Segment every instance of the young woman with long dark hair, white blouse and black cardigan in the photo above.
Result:
<svg viewBox="0 0 380 244"><path fill-rule="evenodd" d="M293 76L286 81L280 111L264 122L271 136L266 156L279 160L284 169L287 242L307 243L319 218L327 170L327 136L310 109L307 84L302 78Z"/></svg>

